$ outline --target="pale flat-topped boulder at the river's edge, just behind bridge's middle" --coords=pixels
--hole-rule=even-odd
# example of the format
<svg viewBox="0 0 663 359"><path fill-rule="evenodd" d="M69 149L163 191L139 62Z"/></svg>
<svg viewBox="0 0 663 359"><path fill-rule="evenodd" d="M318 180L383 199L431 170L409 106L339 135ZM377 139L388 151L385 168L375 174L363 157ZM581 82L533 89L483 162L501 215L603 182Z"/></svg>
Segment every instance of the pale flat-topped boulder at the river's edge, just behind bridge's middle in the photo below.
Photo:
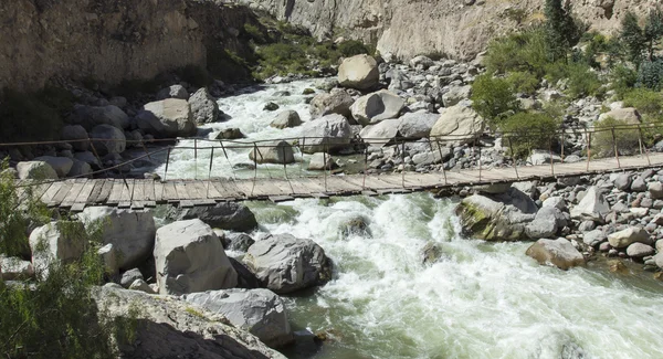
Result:
<svg viewBox="0 0 663 359"><path fill-rule="evenodd" d="M302 151L315 154L349 148L352 129L341 115L333 114L307 122L302 126Z"/></svg>

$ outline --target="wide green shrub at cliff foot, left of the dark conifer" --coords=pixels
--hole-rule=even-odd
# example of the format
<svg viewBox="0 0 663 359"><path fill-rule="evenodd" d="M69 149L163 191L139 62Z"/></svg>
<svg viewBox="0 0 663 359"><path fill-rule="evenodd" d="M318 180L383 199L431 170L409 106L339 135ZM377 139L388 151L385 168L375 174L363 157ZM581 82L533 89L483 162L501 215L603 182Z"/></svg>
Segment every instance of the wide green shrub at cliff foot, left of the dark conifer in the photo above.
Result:
<svg viewBox="0 0 663 359"><path fill-rule="evenodd" d="M548 50L541 29L527 30L493 40L484 63L488 73L527 71L543 75L548 63Z"/></svg>

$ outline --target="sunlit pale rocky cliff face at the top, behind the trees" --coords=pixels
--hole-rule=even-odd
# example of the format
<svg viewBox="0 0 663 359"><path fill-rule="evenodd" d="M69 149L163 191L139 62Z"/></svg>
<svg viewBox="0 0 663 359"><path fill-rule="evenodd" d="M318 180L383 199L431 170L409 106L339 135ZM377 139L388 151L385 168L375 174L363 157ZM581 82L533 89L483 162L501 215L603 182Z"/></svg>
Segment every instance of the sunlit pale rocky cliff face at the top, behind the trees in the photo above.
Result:
<svg viewBox="0 0 663 359"><path fill-rule="evenodd" d="M241 0L316 36L377 42L381 53L408 59L440 53L472 59L495 35L543 19L544 0ZM657 0L572 1L592 29L611 32L628 10L644 14ZM520 11L522 10L522 11Z"/></svg>

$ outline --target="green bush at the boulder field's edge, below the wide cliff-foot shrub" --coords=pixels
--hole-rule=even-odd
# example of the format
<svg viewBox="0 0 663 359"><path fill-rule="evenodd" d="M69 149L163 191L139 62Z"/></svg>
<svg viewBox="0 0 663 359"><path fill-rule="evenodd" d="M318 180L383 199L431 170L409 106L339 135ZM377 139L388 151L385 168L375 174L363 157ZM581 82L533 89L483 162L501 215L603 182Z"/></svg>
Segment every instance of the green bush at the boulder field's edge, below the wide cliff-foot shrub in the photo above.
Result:
<svg viewBox="0 0 663 359"><path fill-rule="evenodd" d="M518 109L509 82L488 74L475 78L472 101L474 109L493 127L498 124L501 115Z"/></svg>

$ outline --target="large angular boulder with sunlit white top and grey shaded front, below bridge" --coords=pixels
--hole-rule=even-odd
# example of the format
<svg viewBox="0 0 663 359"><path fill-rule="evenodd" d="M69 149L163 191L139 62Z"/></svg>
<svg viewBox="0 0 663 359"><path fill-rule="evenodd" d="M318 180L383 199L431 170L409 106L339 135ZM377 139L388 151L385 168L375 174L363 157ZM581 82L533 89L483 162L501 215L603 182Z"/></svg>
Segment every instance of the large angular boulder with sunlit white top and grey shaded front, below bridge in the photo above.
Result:
<svg viewBox="0 0 663 359"><path fill-rule="evenodd" d="M160 294L224 289L238 284L221 240L201 220L158 229L154 255Z"/></svg>

